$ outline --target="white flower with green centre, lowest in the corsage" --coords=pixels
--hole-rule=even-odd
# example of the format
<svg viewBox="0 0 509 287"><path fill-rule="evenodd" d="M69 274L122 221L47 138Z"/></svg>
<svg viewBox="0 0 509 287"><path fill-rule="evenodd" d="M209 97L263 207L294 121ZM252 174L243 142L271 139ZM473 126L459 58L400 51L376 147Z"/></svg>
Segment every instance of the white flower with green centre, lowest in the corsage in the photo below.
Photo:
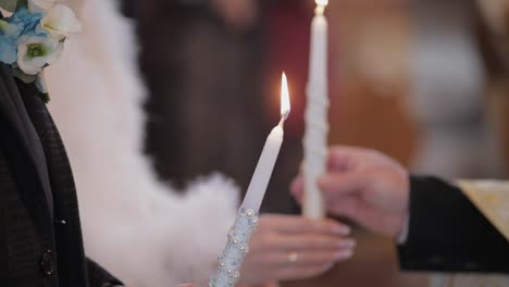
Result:
<svg viewBox="0 0 509 287"><path fill-rule="evenodd" d="M45 66L52 64L63 51L63 43L50 35L20 37L17 65L27 75L37 75Z"/></svg>

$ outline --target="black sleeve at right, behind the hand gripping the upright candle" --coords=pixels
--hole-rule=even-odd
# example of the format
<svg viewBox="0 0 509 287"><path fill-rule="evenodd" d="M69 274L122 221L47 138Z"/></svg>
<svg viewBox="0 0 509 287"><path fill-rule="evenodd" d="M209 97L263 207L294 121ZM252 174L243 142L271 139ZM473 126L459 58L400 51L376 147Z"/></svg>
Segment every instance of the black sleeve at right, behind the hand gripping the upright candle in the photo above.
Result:
<svg viewBox="0 0 509 287"><path fill-rule="evenodd" d="M456 186L410 178L410 222L401 269L509 273L509 242Z"/></svg>

